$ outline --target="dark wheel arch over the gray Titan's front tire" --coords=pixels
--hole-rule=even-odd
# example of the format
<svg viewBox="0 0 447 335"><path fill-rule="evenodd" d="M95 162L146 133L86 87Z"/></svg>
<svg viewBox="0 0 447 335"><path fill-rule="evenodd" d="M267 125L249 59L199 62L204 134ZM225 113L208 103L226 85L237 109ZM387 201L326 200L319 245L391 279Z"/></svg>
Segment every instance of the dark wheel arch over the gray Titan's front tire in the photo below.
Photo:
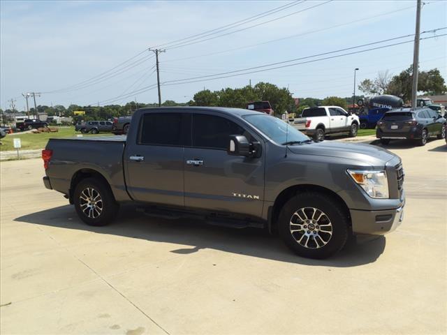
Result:
<svg viewBox="0 0 447 335"><path fill-rule="evenodd" d="M300 185L289 186L288 188L281 191L279 195L277 195L277 198L274 200L272 209L270 210L270 218L268 220L268 229L270 232L277 230L277 221L279 218L279 213L281 212L282 207L284 207L284 204L286 204L286 202L293 196L302 192L317 192L329 195L333 200L335 200L342 206L343 211L346 213L346 216L348 217L349 229L351 230L352 224L351 224L351 215L349 207L347 206L346 202L344 202L342 197L340 197L337 193L330 190L329 188L325 188L323 186L318 186L314 184L300 184Z"/></svg>

